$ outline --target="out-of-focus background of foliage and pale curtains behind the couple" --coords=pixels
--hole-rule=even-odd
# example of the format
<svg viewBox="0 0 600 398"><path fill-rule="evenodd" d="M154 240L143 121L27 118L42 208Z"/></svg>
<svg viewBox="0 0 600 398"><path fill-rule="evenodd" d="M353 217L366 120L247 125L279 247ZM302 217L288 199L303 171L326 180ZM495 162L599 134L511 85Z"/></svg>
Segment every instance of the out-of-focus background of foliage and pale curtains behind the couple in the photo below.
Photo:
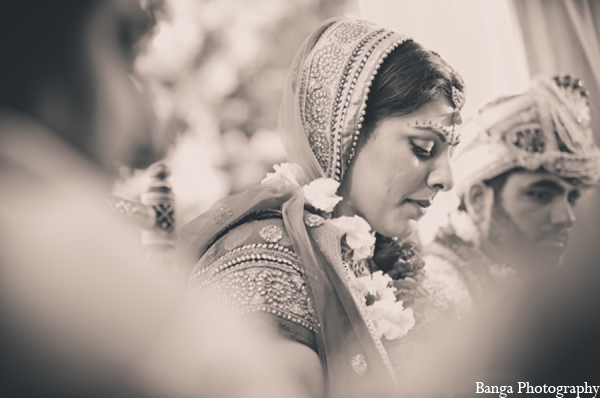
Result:
<svg viewBox="0 0 600 398"><path fill-rule="evenodd" d="M285 161L277 114L292 58L323 20L352 15L437 51L468 86L463 116L531 76L570 73L590 92L600 134L600 2L594 0L146 0L157 23L136 77L167 140L165 162L182 226L218 198L258 183ZM592 67L594 65L595 67ZM597 141L599 137L596 137ZM147 180L123 169L117 194L137 199ZM455 205L440 195L421 222L430 240ZM589 239L593 195L573 241Z"/></svg>

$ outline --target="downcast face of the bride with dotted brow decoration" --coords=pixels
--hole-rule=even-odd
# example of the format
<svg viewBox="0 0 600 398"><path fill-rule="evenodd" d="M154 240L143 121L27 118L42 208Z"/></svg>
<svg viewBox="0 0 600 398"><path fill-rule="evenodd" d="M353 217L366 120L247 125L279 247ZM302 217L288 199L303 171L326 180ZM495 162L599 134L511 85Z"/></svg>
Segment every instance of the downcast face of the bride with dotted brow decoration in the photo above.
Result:
<svg viewBox="0 0 600 398"><path fill-rule="evenodd" d="M438 96L415 113L380 120L344 177L336 213L362 216L382 235L408 237L435 194L453 186L444 134L453 111Z"/></svg>

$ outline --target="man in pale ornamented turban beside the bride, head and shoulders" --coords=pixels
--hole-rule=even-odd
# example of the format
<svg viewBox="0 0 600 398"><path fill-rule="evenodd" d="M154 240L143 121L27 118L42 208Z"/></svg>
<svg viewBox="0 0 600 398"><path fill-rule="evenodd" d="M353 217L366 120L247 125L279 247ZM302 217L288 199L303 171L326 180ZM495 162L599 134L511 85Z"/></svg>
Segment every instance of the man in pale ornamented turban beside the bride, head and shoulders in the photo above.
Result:
<svg viewBox="0 0 600 398"><path fill-rule="evenodd" d="M453 162L460 207L428 248L426 269L462 306L558 265L573 207L600 176L587 92L578 79L538 78L461 128Z"/></svg>

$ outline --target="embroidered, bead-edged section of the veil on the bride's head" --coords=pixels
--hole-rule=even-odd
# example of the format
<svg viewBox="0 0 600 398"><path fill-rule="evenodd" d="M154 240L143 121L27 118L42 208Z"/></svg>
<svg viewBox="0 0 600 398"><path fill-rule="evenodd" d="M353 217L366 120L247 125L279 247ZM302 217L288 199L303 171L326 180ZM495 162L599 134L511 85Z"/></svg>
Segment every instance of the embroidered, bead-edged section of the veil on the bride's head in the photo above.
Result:
<svg viewBox="0 0 600 398"><path fill-rule="evenodd" d="M367 21L341 19L310 50L299 71L300 116L326 177L342 180L356 151L375 75L407 40Z"/></svg>

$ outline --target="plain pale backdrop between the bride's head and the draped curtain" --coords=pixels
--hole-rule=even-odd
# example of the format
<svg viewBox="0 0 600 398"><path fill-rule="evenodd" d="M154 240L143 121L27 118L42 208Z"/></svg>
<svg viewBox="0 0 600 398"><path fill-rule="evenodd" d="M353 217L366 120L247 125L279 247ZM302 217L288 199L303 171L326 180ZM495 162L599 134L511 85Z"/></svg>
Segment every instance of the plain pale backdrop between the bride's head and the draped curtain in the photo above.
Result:
<svg viewBox="0 0 600 398"><path fill-rule="evenodd" d="M360 0L364 17L438 52L463 76L467 103L463 116L499 95L524 90L527 57L509 0ZM419 223L424 243L433 238L453 194L440 194Z"/></svg>

